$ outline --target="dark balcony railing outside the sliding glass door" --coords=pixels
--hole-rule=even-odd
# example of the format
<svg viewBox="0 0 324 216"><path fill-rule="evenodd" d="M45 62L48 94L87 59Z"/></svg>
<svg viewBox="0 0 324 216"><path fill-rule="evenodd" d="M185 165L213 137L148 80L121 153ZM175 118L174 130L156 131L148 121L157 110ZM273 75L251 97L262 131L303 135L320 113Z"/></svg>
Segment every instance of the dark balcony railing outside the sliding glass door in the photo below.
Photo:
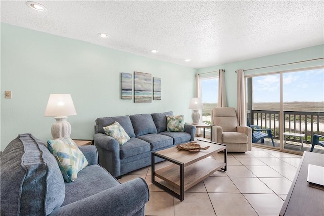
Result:
<svg viewBox="0 0 324 216"><path fill-rule="evenodd" d="M304 143L312 143L313 135L324 135L324 112L284 111L285 132L305 134ZM277 110L248 110L247 116L251 124L260 128L270 128L274 139L279 139L279 111ZM299 138L290 138L299 142Z"/></svg>

